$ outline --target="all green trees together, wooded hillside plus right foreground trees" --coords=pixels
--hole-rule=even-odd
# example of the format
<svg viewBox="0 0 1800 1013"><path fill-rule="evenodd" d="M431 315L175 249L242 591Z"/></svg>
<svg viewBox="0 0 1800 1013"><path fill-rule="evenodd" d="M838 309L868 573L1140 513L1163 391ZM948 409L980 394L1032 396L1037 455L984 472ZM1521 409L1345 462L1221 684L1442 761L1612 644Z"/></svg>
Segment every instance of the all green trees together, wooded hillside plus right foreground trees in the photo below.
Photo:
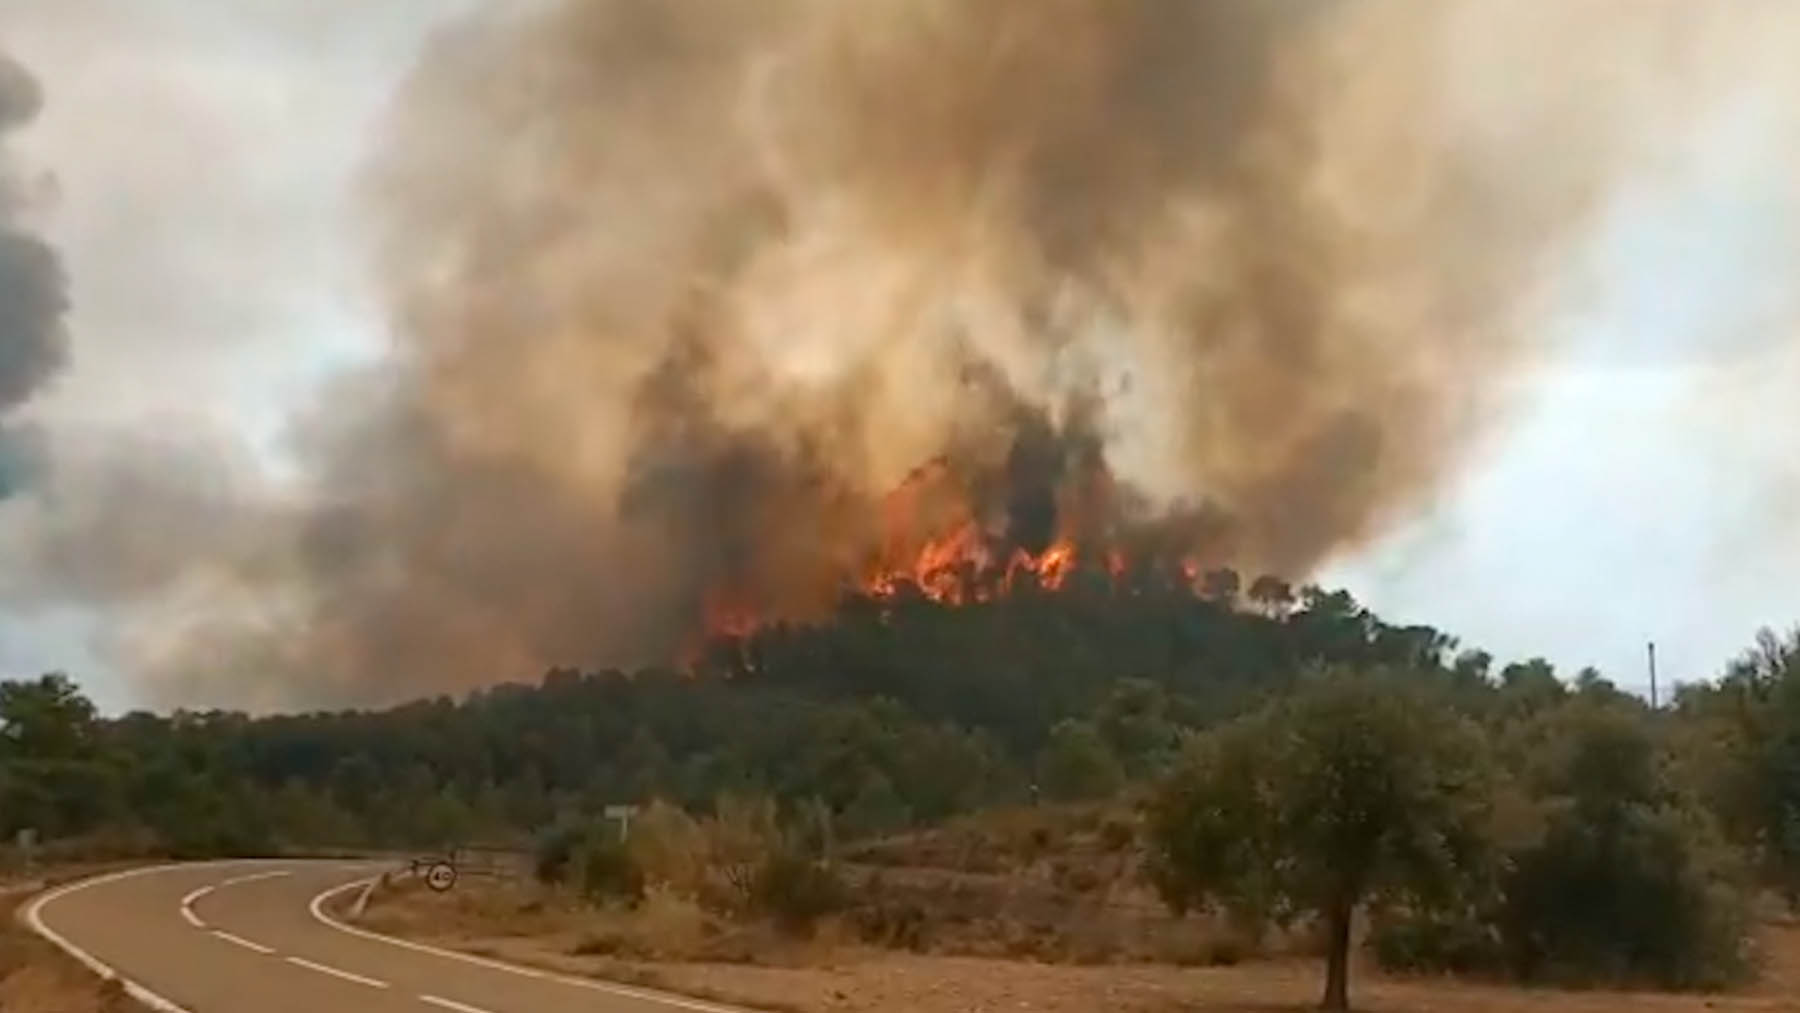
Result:
<svg viewBox="0 0 1800 1013"><path fill-rule="evenodd" d="M526 846L614 802L729 795L848 840L1130 795L1170 905L1310 919L1332 1004L1354 925L1397 966L1699 988L1750 966L1753 891L1800 896L1800 635L1652 711L1341 590L1201 587L848 597L689 671L558 669L382 711L103 718L67 677L4 682L0 833L194 856Z"/></svg>

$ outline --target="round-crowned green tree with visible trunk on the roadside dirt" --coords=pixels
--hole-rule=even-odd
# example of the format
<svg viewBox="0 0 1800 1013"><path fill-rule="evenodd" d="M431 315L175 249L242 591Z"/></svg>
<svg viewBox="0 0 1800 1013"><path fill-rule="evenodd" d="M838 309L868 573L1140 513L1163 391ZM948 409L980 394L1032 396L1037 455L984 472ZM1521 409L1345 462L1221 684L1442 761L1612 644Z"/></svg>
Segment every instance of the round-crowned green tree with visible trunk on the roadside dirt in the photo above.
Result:
<svg viewBox="0 0 1800 1013"><path fill-rule="evenodd" d="M1478 729L1400 673L1319 673L1197 738L1152 801L1152 874L1175 910L1327 930L1325 1009L1350 1006L1350 930L1372 900L1453 903L1487 867Z"/></svg>

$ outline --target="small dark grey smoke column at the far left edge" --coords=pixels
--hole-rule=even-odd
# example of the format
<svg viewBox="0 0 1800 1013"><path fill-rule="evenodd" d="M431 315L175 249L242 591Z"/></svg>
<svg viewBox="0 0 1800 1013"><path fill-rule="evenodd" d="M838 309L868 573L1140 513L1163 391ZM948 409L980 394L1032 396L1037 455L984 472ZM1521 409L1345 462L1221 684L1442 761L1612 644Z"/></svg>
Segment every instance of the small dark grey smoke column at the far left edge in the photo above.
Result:
<svg viewBox="0 0 1800 1013"><path fill-rule="evenodd" d="M9 416L61 369L67 354L63 268L20 221L25 184L7 166L4 148L41 104L38 81L0 50L0 498L16 491L41 457L34 434Z"/></svg>

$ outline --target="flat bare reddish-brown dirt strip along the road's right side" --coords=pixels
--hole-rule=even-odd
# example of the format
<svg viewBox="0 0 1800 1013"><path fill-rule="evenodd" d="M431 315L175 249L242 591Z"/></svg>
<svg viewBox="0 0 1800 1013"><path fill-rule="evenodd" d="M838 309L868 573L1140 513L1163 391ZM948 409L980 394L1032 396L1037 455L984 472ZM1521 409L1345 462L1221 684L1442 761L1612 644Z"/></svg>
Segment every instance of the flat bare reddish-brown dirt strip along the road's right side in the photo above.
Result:
<svg viewBox="0 0 1800 1013"><path fill-rule="evenodd" d="M578 955L581 934L553 912L482 932L470 918L475 907L468 896L400 892L376 901L367 923L481 955L790 1013L1273 1013L1316 1008L1321 986L1319 964L1300 959L1220 968L1069 966L898 954L830 936L761 954L756 963ZM1521 990L1395 979L1361 966L1352 997L1359 1009L1375 1013L1800 1009L1800 928L1769 927L1764 952L1762 981L1730 995Z"/></svg>

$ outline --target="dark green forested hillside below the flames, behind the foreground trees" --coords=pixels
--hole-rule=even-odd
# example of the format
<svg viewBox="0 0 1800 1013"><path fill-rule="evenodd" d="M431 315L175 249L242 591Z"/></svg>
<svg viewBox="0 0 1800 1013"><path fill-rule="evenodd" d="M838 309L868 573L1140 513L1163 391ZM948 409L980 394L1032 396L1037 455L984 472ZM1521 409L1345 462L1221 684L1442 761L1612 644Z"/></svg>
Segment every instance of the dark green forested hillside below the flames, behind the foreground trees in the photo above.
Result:
<svg viewBox="0 0 1800 1013"><path fill-rule="evenodd" d="M1487 659L1345 592L1235 574L1100 581L947 606L846 599L835 619L716 639L691 669L551 671L464 700L250 718L101 720L61 677L0 696L0 831L182 851L522 838L617 801L823 801L842 833L1107 793L1310 662L1480 686ZM1505 680L1544 678L1539 668Z"/></svg>

